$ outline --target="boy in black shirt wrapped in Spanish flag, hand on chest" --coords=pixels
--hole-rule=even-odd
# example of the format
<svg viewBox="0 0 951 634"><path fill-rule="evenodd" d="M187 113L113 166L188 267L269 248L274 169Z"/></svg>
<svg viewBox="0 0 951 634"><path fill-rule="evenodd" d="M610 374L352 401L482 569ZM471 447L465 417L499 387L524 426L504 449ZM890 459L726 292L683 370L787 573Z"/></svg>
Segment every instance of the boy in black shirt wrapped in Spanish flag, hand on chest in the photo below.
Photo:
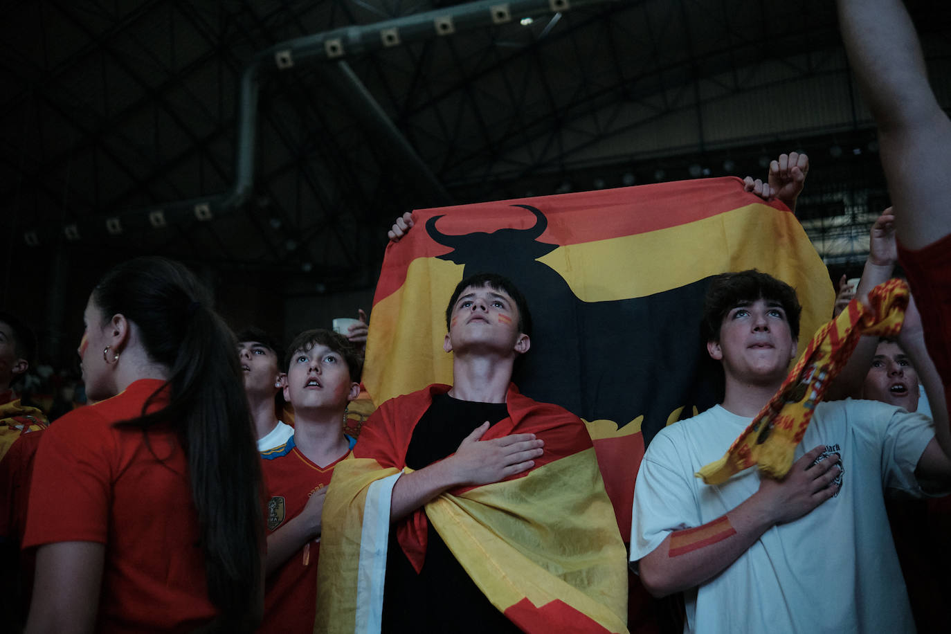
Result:
<svg viewBox="0 0 951 634"><path fill-rule="evenodd" d="M511 383L531 347L524 298L497 275L463 279L446 328L453 385L383 403L328 491L319 626L626 631L624 545L591 438Z"/></svg>

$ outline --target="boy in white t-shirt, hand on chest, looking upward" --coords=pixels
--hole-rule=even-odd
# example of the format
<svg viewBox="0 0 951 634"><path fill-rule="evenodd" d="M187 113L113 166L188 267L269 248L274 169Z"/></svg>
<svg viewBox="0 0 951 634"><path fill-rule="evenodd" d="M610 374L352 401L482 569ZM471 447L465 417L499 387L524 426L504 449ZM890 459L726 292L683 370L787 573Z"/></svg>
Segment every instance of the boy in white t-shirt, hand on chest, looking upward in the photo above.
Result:
<svg viewBox="0 0 951 634"><path fill-rule="evenodd" d="M634 488L631 562L655 596L686 591L688 631L913 631L883 492L922 495L922 482L951 481L943 399L934 427L884 403L820 402L783 479L757 469L715 486L694 477L780 388L799 312L795 291L758 271L711 283L704 325L725 398L650 443ZM909 310L899 340L920 364L914 321Z"/></svg>

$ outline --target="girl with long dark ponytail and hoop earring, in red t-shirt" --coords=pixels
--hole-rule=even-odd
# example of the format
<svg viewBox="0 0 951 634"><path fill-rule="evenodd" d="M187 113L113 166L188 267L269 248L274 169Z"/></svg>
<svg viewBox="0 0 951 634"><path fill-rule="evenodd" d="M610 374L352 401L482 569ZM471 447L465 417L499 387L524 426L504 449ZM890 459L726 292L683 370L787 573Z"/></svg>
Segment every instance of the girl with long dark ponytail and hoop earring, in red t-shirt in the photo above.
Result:
<svg viewBox="0 0 951 634"><path fill-rule="evenodd" d="M107 273L85 322L78 352L99 402L37 451L27 631L253 629L261 473L229 331L198 280L159 258Z"/></svg>

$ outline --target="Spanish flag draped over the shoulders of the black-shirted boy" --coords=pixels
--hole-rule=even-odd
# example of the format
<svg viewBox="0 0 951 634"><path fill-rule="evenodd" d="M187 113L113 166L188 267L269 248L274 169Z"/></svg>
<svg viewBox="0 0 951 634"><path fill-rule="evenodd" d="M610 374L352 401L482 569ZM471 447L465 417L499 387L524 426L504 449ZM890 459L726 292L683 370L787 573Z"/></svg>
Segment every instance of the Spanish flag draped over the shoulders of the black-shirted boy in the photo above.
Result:
<svg viewBox="0 0 951 634"><path fill-rule="evenodd" d="M315 632L377 632L389 504L434 385L383 403L354 459L334 471L323 506ZM526 632L626 632L627 558L592 441L577 416L510 386L509 416L483 436L532 432L545 441L534 468L495 484L439 495L396 525L417 570L431 522L489 601Z"/></svg>

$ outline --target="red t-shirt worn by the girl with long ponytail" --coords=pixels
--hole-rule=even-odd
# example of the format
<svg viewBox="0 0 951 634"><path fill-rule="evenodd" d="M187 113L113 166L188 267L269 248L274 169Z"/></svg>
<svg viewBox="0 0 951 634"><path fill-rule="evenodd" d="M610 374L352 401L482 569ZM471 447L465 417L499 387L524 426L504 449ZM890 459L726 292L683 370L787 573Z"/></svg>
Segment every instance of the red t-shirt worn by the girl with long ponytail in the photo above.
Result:
<svg viewBox="0 0 951 634"><path fill-rule="evenodd" d="M146 445L141 430L114 425L162 385L141 379L66 414L36 452L24 548L106 545L98 632L189 631L216 614L178 438L155 429Z"/></svg>

